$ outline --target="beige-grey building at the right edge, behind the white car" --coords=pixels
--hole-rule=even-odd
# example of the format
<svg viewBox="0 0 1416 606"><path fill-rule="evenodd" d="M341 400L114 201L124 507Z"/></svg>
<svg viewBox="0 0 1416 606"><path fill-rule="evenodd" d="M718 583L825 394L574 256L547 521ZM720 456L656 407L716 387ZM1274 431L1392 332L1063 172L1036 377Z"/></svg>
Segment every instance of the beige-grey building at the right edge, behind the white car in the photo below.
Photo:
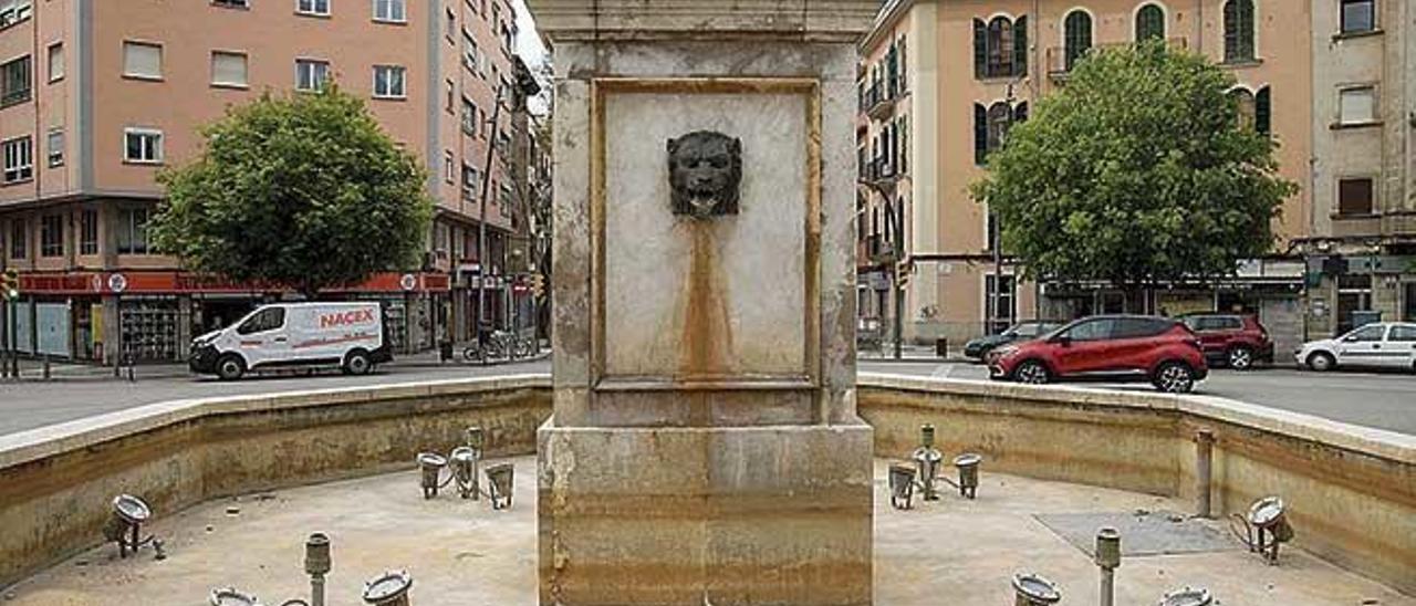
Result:
<svg viewBox="0 0 1416 606"><path fill-rule="evenodd" d="M1313 4L1310 334L1416 321L1413 27L1410 1Z"/></svg>

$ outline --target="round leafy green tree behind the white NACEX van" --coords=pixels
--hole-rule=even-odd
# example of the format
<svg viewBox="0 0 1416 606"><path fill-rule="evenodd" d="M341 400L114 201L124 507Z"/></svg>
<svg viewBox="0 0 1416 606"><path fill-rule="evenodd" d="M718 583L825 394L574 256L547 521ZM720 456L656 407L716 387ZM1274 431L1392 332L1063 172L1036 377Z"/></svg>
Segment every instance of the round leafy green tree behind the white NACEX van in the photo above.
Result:
<svg viewBox="0 0 1416 606"><path fill-rule="evenodd" d="M201 135L201 156L159 177L167 202L152 225L190 269L313 297L416 265L426 173L361 99L334 85L266 93Z"/></svg>

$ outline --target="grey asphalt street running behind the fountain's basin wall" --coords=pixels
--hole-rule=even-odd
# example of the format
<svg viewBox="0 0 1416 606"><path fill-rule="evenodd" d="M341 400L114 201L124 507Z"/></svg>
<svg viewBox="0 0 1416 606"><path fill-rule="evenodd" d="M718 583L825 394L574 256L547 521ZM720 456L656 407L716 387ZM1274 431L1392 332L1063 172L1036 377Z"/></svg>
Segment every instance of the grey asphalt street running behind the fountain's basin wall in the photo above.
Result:
<svg viewBox="0 0 1416 606"><path fill-rule="evenodd" d="M144 404L181 398L268 394L435 381L496 374L549 372L545 360L494 367L476 365L389 365L370 377L321 374L314 377L258 377L221 382L207 377L166 375L136 382L112 378L82 378L54 382L0 384L0 435L62 423ZM983 365L939 361L865 361L861 372L915 377L987 379ZM1147 384L1082 385L1150 391ZM1279 409L1303 412L1354 425L1416 435L1416 377L1410 374L1332 372L1315 374L1293 368L1263 368L1250 372L1216 370L1199 384L1198 394L1216 395Z"/></svg>

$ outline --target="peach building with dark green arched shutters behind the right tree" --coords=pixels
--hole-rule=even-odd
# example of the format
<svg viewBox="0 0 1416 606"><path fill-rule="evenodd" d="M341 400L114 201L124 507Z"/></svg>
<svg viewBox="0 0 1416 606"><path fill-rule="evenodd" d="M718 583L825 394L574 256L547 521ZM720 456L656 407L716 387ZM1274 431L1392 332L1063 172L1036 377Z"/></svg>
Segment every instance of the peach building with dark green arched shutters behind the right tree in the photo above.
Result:
<svg viewBox="0 0 1416 606"><path fill-rule="evenodd" d="M1232 72L1247 123L1281 146L1281 174L1307 184L1313 57L1308 38L1291 28L1310 18L1307 3L1279 0L891 0L861 44L862 314L889 323L886 259L868 253L878 241L898 259L891 263L910 341L960 343L1031 317L1216 307L1259 313L1284 327L1284 344L1301 338L1304 263L1286 253L1308 234L1307 187L1283 204L1273 258L1245 263L1218 287L1165 289L1146 300L1100 283L1022 280L967 188L1008 126L1065 86L1089 50L1151 37ZM877 231L875 215L898 217L899 231L884 221Z"/></svg>

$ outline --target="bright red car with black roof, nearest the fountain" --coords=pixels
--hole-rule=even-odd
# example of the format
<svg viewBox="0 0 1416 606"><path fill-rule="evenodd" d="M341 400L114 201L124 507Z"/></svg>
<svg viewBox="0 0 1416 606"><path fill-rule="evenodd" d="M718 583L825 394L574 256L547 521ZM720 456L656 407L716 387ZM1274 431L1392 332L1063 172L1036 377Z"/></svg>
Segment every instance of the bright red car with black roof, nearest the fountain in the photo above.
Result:
<svg viewBox="0 0 1416 606"><path fill-rule="evenodd" d="M1035 341L988 357L994 379L1045 384L1062 379L1150 381L1188 394L1209 375L1199 338L1185 324L1151 316L1093 316Z"/></svg>

